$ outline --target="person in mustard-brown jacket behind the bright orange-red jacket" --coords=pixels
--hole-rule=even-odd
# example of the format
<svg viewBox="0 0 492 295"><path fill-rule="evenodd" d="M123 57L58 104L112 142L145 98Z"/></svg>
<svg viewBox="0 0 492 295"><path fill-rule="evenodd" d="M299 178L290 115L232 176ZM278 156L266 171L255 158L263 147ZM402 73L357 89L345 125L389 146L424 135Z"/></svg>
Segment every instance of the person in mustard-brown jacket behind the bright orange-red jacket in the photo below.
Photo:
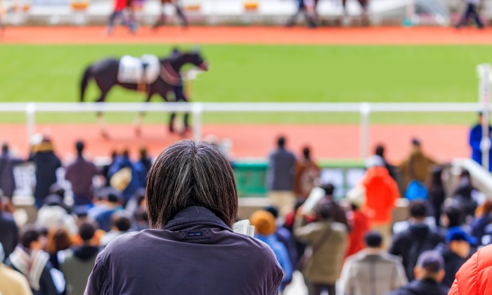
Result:
<svg viewBox="0 0 492 295"><path fill-rule="evenodd" d="M427 183L432 166L436 162L427 157L422 152L422 146L419 140L412 140L412 149L410 155L403 159L403 162L399 166L399 172L403 177L403 190L407 190L408 184L412 181L419 183ZM427 197L427 196L426 196Z"/></svg>

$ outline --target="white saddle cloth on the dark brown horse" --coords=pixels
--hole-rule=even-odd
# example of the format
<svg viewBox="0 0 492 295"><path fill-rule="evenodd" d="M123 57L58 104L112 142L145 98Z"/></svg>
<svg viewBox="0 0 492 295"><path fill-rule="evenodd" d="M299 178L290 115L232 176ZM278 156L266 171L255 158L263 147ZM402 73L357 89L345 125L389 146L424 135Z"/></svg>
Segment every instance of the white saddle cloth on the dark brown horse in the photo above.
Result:
<svg viewBox="0 0 492 295"><path fill-rule="evenodd" d="M152 84L157 80L159 74L160 62L155 55L145 54L141 58L124 55L119 60L118 81L120 83Z"/></svg>

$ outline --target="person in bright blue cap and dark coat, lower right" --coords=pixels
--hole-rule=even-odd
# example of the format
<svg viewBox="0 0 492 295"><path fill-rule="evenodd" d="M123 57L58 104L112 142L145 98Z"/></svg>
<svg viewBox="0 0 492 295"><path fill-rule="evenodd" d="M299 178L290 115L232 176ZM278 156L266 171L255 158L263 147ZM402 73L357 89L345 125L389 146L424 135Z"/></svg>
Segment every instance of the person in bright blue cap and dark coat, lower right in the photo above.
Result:
<svg viewBox="0 0 492 295"><path fill-rule="evenodd" d="M461 228L453 228L446 235L447 244L439 244L436 250L444 258L444 280L442 284L451 288L461 265L470 257L470 249L477 244L477 238L468 235Z"/></svg>

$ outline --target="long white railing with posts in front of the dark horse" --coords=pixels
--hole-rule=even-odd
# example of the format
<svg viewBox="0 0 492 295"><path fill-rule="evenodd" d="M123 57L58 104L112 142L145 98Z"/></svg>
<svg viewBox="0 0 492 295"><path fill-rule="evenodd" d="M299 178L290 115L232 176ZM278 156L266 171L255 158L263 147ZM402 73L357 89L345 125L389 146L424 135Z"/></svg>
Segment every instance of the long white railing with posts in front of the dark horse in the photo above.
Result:
<svg viewBox="0 0 492 295"><path fill-rule="evenodd" d="M29 138L37 112L190 112L196 140L202 139L205 112L356 112L361 116L361 157L365 158L372 112L477 112L480 107L479 103L0 103L0 112L25 112Z"/></svg>

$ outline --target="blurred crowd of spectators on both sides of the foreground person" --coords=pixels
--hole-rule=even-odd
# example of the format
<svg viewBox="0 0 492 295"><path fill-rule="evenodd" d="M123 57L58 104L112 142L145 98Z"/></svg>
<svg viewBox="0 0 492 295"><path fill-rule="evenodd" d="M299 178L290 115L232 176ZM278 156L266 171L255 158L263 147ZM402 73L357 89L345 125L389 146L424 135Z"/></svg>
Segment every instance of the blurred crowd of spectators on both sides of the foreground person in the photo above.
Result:
<svg viewBox="0 0 492 295"><path fill-rule="evenodd" d="M145 187L152 161L145 149L136 161L128 150L115 152L103 167L84 157L83 142L75 144L75 151L77 157L65 166L67 192L57 183L62 163L49 138L32 147L26 160L36 165L37 219L18 228L11 197L13 166L22 160L10 157L8 145L2 146L1 294L84 294L102 249L115 239L124 240L118 237L127 232L159 224L149 223ZM169 158L167 165L179 160ZM339 199L338 188L321 183L321 169L309 147L296 157L287 140L278 138L266 179L272 205L250 216L254 237L271 248L283 270L278 291L299 270L310 295L447 294L467 259L492 242L492 202L476 197L467 171L446 199L442 167L425 155L418 140L398 166L385 159L380 145L365 162L358 185ZM101 187L94 187L95 177L102 179ZM411 183L424 190L409 192ZM159 185L166 191L176 184L166 189ZM324 196L306 209L313 188L321 188ZM67 195L72 195L70 206ZM393 223L396 201L403 197L411 201L408 220ZM6 287L5 281L12 283Z"/></svg>

